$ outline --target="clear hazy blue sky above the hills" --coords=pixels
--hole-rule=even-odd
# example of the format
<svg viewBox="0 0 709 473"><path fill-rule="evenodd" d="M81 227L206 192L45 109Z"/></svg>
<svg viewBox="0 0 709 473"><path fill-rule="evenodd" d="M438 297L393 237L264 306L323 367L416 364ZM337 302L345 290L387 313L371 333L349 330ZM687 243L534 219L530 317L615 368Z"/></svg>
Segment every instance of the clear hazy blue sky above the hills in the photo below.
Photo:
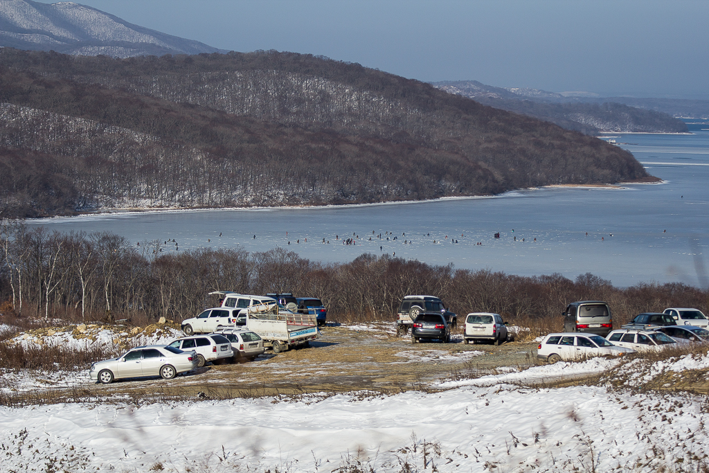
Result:
<svg viewBox="0 0 709 473"><path fill-rule="evenodd" d="M216 48L325 55L427 82L709 99L709 0L77 3Z"/></svg>

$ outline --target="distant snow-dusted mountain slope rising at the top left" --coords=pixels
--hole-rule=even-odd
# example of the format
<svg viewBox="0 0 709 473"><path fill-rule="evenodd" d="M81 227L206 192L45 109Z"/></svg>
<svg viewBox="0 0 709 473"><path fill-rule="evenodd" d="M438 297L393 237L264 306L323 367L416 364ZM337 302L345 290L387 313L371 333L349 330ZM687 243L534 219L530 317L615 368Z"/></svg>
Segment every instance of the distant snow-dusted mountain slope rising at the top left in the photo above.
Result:
<svg viewBox="0 0 709 473"><path fill-rule="evenodd" d="M116 57L218 52L69 1L0 0L0 46Z"/></svg>

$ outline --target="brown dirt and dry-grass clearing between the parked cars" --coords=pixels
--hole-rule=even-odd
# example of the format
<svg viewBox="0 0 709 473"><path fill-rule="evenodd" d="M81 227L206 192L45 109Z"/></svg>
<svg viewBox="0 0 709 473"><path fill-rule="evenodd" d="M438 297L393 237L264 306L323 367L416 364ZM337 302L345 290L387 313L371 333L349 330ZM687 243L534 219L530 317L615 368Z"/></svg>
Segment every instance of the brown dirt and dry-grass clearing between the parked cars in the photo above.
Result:
<svg viewBox="0 0 709 473"><path fill-rule="evenodd" d="M371 395L430 389L441 379L488 374L500 367L529 367L536 360L535 343L465 345L458 334L452 343L412 344L408 336L396 337L393 328L393 323L327 326L311 347L301 350L278 355L267 350L254 362L207 365L167 382L128 380L108 386L89 384L86 389L99 397L143 393L227 399L343 391Z"/></svg>

